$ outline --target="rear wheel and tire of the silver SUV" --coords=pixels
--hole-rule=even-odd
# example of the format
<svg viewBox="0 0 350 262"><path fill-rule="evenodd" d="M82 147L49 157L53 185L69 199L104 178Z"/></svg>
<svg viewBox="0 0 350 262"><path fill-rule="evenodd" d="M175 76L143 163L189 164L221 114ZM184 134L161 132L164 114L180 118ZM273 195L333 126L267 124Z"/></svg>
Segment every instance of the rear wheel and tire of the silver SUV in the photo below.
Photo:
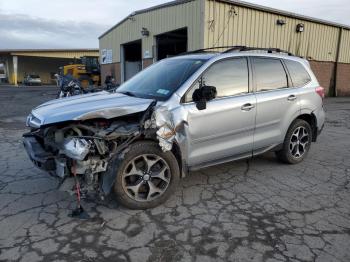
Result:
<svg viewBox="0 0 350 262"><path fill-rule="evenodd" d="M279 160L287 164L298 164L309 152L312 129L308 122L296 119L289 127L281 150L276 152Z"/></svg>

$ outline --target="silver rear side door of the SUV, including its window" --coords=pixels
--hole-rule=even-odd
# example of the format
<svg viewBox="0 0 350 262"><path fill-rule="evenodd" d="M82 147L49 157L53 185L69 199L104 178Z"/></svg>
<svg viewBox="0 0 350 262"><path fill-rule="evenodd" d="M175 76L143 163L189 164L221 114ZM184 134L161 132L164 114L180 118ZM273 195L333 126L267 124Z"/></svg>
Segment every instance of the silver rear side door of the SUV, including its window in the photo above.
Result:
<svg viewBox="0 0 350 262"><path fill-rule="evenodd" d="M261 153L280 144L300 112L299 91L292 87L281 59L251 58L257 101L254 151Z"/></svg>

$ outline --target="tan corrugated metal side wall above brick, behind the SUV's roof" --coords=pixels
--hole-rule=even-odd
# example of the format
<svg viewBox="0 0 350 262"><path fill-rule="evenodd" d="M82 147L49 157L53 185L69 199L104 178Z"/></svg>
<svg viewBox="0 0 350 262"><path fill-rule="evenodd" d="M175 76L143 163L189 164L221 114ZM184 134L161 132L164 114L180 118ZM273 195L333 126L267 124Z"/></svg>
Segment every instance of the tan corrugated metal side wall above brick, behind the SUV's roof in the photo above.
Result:
<svg viewBox="0 0 350 262"><path fill-rule="evenodd" d="M283 19L286 24L277 25L277 19ZM305 31L302 33L296 32L299 23L304 24ZM335 61L339 30L335 26L230 3L213 0L205 2L204 47L276 47L317 61ZM349 43L348 31L344 34L347 42L343 41L343 49L344 43ZM350 59L345 50L341 59Z"/></svg>

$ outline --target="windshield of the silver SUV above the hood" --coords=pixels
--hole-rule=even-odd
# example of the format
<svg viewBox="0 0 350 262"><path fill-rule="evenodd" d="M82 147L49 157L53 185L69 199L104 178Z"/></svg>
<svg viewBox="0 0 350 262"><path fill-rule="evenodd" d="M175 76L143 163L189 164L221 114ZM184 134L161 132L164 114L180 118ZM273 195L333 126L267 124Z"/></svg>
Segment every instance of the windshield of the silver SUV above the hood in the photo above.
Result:
<svg viewBox="0 0 350 262"><path fill-rule="evenodd" d="M117 92L165 101L205 62L191 58L162 60L125 82Z"/></svg>

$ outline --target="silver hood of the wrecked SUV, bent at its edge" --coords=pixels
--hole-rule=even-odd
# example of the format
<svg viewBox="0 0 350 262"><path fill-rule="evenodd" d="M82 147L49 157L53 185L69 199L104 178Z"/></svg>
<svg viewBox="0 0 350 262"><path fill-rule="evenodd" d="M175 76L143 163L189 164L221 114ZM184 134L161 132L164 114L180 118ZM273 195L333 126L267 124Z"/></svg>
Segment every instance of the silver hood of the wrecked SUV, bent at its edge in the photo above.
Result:
<svg viewBox="0 0 350 262"><path fill-rule="evenodd" d="M152 101L103 91L51 100L33 109L28 121L39 127L71 120L110 119L145 111Z"/></svg>

